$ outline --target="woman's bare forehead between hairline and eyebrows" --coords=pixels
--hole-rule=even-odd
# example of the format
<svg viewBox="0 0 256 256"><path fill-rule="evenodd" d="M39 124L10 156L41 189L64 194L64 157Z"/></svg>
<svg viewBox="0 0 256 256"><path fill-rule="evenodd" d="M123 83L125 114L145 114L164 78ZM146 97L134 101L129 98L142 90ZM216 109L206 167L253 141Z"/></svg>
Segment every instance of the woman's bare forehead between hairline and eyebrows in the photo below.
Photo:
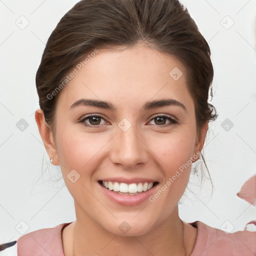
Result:
<svg viewBox="0 0 256 256"><path fill-rule="evenodd" d="M62 107L69 108L82 97L116 102L119 106L163 97L191 103L185 69L172 55L144 44L98 49L92 55L87 54L74 67L76 74L59 95Z"/></svg>

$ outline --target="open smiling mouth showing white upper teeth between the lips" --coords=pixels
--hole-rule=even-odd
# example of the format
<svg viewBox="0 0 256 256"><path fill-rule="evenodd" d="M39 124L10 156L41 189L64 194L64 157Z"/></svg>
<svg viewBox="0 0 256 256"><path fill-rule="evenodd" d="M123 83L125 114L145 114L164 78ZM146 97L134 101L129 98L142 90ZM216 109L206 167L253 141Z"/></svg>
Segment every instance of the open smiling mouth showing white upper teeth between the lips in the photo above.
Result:
<svg viewBox="0 0 256 256"><path fill-rule="evenodd" d="M159 182L134 182L134 183L124 183L108 180L98 180L98 183L109 191L116 192L122 195L138 195L156 186Z"/></svg>

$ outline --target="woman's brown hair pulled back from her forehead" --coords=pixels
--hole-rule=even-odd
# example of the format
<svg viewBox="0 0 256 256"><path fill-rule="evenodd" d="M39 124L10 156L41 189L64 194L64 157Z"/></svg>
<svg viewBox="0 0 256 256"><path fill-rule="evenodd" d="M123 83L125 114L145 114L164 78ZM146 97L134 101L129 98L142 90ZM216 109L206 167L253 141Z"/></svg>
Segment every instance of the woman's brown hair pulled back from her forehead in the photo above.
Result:
<svg viewBox="0 0 256 256"><path fill-rule="evenodd" d="M212 98L213 79L209 45L178 0L81 0L52 31L36 72L39 105L53 138L61 91L54 96L52 92L60 84L64 86L70 70L95 48L130 47L138 42L175 56L185 66L197 135L206 121L217 117L214 106L207 102L209 90Z"/></svg>

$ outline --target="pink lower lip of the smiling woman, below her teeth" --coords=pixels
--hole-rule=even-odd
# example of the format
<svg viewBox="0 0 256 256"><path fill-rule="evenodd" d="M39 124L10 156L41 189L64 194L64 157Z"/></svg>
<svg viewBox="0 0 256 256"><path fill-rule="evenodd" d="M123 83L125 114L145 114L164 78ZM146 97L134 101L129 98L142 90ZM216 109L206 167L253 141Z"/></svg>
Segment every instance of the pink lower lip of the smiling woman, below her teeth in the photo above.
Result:
<svg viewBox="0 0 256 256"><path fill-rule="evenodd" d="M101 184L98 183L100 186L100 189L102 192L112 201L125 205L125 206L133 206L133 205L138 205L142 203L143 201L147 200L149 196L151 196L155 189L158 186L158 183L154 186L152 186L149 190L144 191L142 193L136 194L136 195L124 195L124 194L118 194L114 192L113 190L109 190L102 186Z"/></svg>

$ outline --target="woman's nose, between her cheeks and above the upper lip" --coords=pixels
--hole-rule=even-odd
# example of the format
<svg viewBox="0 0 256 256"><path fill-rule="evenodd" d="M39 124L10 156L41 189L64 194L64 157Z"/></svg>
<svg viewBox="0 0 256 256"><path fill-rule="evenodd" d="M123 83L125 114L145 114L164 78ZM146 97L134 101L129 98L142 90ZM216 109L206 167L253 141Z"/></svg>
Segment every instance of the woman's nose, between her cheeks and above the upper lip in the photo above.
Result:
<svg viewBox="0 0 256 256"><path fill-rule="evenodd" d="M113 137L110 159L114 164L121 164L125 169L134 169L138 163L148 160L148 147L135 125L126 131L117 127L117 134Z"/></svg>

